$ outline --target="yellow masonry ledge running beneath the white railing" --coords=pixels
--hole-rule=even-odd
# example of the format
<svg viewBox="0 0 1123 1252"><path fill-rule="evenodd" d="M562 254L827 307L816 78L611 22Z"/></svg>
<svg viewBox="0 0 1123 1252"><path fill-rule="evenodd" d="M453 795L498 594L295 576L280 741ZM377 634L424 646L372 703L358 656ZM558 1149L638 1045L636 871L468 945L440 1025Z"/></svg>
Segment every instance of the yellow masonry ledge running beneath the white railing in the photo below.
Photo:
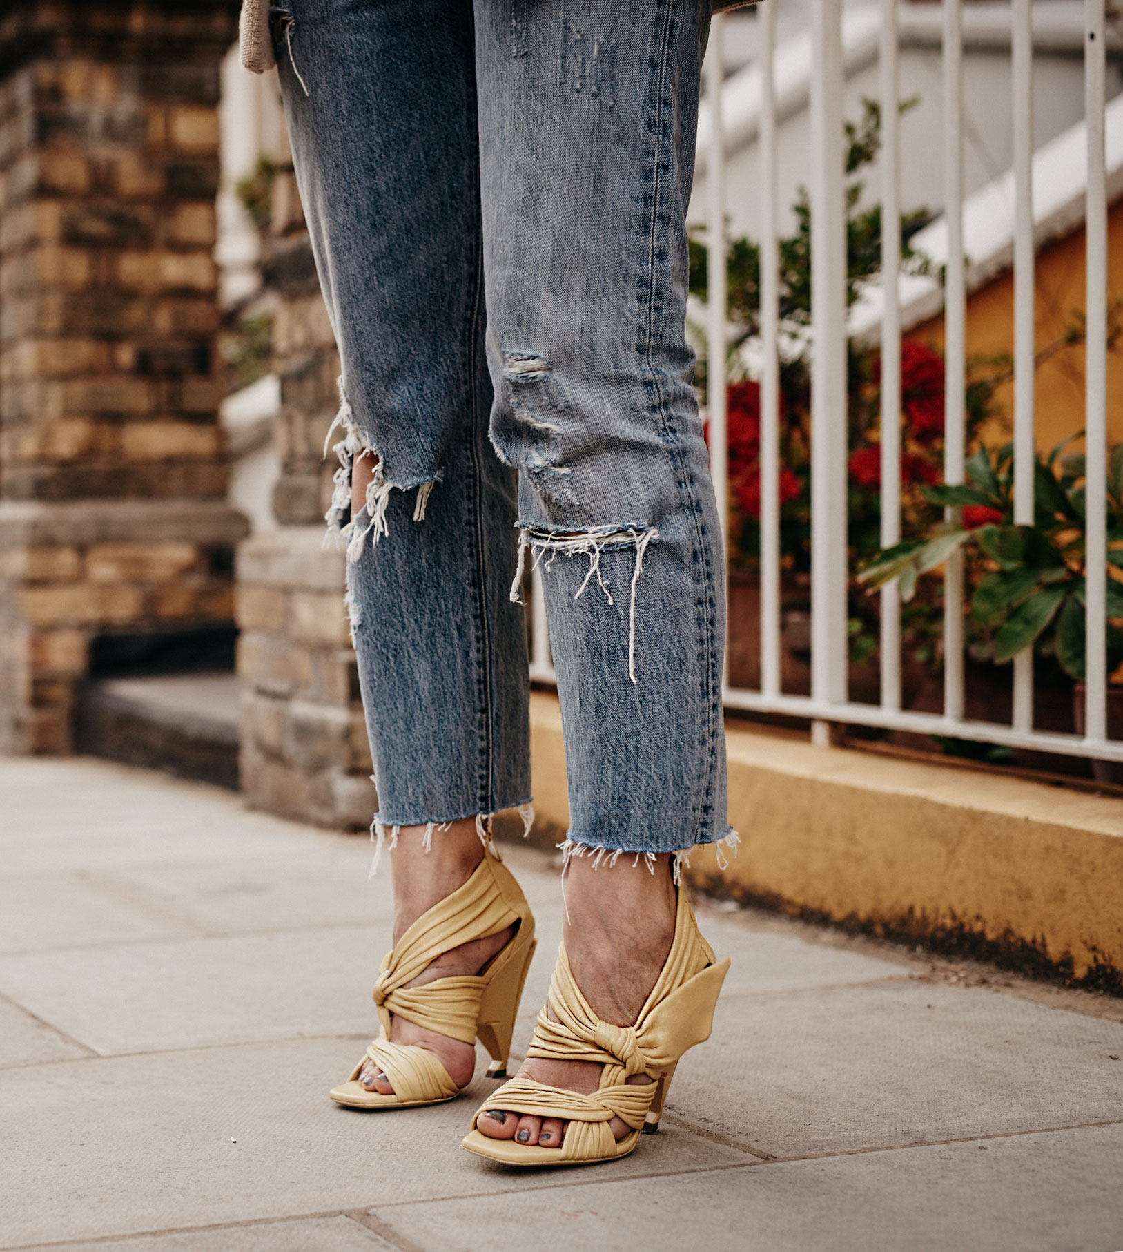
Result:
<svg viewBox="0 0 1123 1252"><path fill-rule="evenodd" d="M568 824L557 700L531 714L535 805ZM908 940L934 940L1118 989L1123 800L939 764L726 729L739 855L712 894Z"/></svg>

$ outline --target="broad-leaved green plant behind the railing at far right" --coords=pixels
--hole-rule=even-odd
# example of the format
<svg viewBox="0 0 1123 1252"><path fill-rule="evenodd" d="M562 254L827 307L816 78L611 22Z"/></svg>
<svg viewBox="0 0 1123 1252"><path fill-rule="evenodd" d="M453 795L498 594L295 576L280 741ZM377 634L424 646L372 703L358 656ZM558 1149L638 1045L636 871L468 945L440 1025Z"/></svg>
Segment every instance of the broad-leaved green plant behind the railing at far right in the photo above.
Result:
<svg viewBox="0 0 1123 1252"><path fill-rule="evenodd" d="M969 561L972 627L982 652L1002 664L1024 647L1057 656L1077 681L1085 672L1084 457L1062 456L1079 436L1034 461L1034 522L1013 522L1014 448L985 447L967 462L961 486L923 488L934 505L959 512L921 538L906 540L874 555L859 582L874 591L893 578L910 601L918 581L941 567L959 550ZM1108 542L1123 545L1123 444L1110 451L1108 475ZM1109 567L1123 570L1123 547L1108 551ZM1107 581L1108 667L1123 661L1123 583Z"/></svg>

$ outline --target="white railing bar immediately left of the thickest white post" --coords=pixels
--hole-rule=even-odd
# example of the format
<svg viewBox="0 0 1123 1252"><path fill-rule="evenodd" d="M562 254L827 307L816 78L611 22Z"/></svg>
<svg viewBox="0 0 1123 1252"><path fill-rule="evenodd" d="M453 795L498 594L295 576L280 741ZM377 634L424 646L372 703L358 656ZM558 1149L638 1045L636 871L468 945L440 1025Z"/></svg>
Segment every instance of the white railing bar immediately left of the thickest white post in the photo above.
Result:
<svg viewBox="0 0 1123 1252"><path fill-rule="evenodd" d="M760 689L780 694L780 248L776 223L776 5L760 29Z"/></svg>

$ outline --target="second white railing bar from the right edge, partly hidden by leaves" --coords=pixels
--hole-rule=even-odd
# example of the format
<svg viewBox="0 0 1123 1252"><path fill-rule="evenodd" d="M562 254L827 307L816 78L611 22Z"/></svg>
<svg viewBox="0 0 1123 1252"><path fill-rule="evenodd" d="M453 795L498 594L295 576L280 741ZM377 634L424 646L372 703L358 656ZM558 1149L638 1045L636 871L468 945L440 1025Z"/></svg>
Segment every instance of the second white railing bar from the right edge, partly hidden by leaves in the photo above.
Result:
<svg viewBox="0 0 1123 1252"><path fill-rule="evenodd" d="M1033 526L1035 461L1033 247L1033 9L1010 9L1014 114L1014 523ZM1033 729L1033 646L1014 657L1014 727Z"/></svg>

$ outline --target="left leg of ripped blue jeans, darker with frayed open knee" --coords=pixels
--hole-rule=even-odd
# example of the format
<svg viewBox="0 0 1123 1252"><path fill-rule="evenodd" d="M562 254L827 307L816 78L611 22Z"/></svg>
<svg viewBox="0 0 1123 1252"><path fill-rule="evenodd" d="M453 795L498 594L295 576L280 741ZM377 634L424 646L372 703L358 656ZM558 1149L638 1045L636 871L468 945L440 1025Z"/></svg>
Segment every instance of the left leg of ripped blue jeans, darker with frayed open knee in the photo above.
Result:
<svg viewBox="0 0 1123 1252"><path fill-rule="evenodd" d="M342 358L329 521L383 826L530 800L515 475L487 438L471 0L283 0L297 179ZM349 468L379 457L348 521Z"/></svg>

